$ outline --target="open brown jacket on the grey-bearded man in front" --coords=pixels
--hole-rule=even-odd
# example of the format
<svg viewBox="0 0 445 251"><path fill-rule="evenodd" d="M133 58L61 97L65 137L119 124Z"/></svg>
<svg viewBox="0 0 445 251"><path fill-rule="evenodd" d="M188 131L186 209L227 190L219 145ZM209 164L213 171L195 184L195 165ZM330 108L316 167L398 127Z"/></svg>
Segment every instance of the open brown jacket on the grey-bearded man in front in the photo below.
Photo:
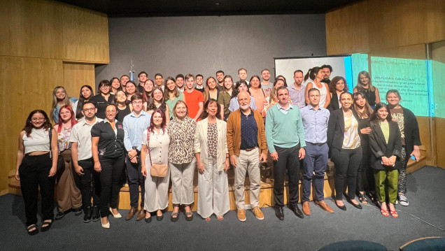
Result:
<svg viewBox="0 0 445 251"><path fill-rule="evenodd" d="M257 141L260 147L260 153L267 155L267 143L266 134L264 131L264 122L261 113L257 110L253 110L253 117L255 117L255 122L257 122ZM229 155L239 156L239 150L241 148L241 110L235 110L230 113L227 119L227 149L229 150Z"/></svg>

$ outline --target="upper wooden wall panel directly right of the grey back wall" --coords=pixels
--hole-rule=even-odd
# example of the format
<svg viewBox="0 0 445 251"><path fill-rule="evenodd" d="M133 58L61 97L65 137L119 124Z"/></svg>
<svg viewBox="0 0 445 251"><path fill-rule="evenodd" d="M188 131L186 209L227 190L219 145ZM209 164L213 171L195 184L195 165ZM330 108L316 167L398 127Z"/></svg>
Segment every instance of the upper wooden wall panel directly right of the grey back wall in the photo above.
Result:
<svg viewBox="0 0 445 251"><path fill-rule="evenodd" d="M327 55L369 51L368 1L326 13Z"/></svg>

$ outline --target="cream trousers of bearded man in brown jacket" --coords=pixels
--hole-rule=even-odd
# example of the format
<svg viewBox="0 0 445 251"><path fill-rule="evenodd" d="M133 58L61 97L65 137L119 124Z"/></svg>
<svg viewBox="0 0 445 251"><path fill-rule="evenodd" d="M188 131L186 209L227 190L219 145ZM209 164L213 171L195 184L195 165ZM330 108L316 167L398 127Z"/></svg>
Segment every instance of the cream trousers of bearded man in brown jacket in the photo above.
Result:
<svg viewBox="0 0 445 251"><path fill-rule="evenodd" d="M235 168L235 200L236 208L244 209L246 206L244 196L244 181L246 180L246 171L250 180L250 206L258 206L258 196L260 196L260 152L259 148L247 152L240 150L236 157Z"/></svg>

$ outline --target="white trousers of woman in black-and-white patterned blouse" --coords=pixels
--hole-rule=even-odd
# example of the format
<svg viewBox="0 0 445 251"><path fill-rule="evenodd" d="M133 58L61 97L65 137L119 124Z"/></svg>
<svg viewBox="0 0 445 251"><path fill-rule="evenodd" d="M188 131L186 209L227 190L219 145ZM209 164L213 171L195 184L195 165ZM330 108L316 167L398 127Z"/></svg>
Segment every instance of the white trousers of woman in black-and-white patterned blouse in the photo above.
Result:
<svg viewBox="0 0 445 251"><path fill-rule="evenodd" d="M196 159L184 164L170 163L171 202L174 204L190 205L193 203L193 175L195 174Z"/></svg>

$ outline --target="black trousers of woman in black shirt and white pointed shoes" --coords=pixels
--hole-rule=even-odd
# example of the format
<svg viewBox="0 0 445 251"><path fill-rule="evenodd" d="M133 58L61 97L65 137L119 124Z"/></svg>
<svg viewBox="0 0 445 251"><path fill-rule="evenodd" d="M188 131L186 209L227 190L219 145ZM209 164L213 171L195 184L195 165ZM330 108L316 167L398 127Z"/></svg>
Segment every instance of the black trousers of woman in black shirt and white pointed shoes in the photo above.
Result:
<svg viewBox="0 0 445 251"><path fill-rule="evenodd" d="M101 180L101 198L100 198L100 211L101 217L106 217L109 213L108 204L111 208L118 207L119 192L120 192L120 175L122 174L122 168L124 168L125 157L101 157L99 156L99 162L101 163L102 171L100 173Z"/></svg>

